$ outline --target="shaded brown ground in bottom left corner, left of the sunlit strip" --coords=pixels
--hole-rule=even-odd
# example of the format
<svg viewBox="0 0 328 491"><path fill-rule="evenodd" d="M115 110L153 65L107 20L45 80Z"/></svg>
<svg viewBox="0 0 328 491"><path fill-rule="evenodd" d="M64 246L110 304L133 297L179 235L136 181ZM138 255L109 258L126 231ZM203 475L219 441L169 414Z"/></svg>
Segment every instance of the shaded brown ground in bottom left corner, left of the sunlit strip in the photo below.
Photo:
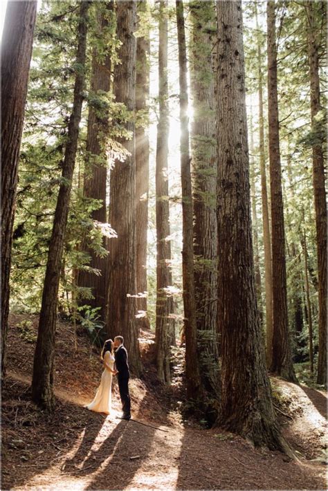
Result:
<svg viewBox="0 0 328 491"><path fill-rule="evenodd" d="M55 411L48 414L31 402L30 386L10 376L3 380L1 389L2 487L12 489L46 472L71 452L82 430L89 428L91 415L60 398ZM84 434L84 445L87 438L98 434L103 423L102 417L92 420L91 431ZM82 452L82 445L79 450Z"/></svg>

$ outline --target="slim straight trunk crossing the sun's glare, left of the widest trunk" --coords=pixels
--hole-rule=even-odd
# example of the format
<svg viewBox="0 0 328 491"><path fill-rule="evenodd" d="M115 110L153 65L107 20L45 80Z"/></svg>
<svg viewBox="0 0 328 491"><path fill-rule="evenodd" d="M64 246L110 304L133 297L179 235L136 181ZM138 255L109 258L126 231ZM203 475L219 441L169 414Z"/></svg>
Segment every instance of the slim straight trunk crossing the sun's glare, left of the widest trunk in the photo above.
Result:
<svg viewBox="0 0 328 491"><path fill-rule="evenodd" d="M185 19L183 1L176 0L176 22L179 47L180 86L180 154L182 191L182 277L185 324L185 376L187 397L199 400L203 387L198 363L196 299L194 288L193 210L188 129L187 53L185 48Z"/></svg>

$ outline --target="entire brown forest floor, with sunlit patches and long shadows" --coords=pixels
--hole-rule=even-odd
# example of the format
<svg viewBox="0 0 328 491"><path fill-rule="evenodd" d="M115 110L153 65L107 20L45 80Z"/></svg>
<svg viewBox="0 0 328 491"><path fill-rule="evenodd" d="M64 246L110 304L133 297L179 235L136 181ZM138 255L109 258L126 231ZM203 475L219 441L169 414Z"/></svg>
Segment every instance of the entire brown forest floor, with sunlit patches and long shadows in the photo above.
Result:
<svg viewBox="0 0 328 491"><path fill-rule="evenodd" d="M75 335L72 324L58 322L57 408L49 415L30 402L36 330L36 316L10 316L2 490L326 489L324 391L271 379L282 431L298 452L299 460L290 461L218 427L183 420L179 367L170 389L156 382L147 363L152 335L144 333L145 376L130 382L134 420L118 419L116 385L113 414L105 417L83 407L100 381L98 350L80 328Z"/></svg>

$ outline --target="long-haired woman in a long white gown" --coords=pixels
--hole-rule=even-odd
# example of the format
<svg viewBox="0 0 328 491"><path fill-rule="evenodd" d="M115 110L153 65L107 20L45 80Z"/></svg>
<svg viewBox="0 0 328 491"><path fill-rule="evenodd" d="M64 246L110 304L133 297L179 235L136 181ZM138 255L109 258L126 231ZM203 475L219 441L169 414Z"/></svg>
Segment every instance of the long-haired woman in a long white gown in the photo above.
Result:
<svg viewBox="0 0 328 491"><path fill-rule="evenodd" d="M111 411L111 381L117 371L113 369L115 358L113 355L114 344L112 340L104 342L101 358L104 361L104 371L102 372L100 386L98 387L95 398L90 404L84 406L91 411L109 414Z"/></svg>

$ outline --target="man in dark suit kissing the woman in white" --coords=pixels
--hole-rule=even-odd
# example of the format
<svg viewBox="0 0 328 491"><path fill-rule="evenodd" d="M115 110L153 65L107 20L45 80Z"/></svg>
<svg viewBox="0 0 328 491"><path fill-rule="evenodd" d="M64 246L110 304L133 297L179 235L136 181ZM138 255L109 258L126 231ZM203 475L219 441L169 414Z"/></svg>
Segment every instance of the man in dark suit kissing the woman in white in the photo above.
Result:
<svg viewBox="0 0 328 491"><path fill-rule="evenodd" d="M127 350L123 346L124 339L122 336L114 337L115 364L118 371L118 389L120 390L120 400L122 401L122 417L129 421L130 414L130 396L129 396L129 365L127 364Z"/></svg>

